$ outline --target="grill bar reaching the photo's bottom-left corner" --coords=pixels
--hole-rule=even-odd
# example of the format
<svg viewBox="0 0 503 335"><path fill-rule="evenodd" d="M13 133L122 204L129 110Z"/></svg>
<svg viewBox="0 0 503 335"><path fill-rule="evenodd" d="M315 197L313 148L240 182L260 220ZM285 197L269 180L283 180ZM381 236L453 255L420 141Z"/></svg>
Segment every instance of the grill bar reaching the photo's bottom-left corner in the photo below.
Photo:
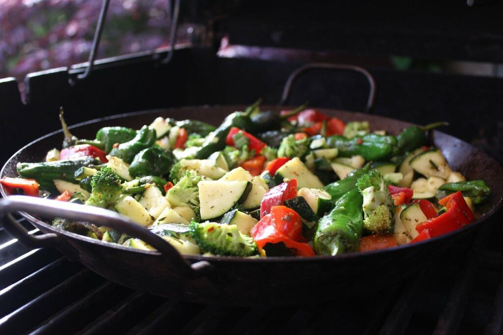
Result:
<svg viewBox="0 0 503 335"><path fill-rule="evenodd" d="M88 269L78 272L26 305L1 318L0 333L17 334L29 331L103 281L102 277Z"/></svg>

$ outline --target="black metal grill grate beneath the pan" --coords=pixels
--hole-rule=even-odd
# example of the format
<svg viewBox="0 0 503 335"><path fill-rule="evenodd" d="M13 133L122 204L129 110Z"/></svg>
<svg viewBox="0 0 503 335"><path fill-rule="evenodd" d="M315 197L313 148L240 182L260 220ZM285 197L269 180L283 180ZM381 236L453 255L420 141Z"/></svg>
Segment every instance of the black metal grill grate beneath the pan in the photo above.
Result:
<svg viewBox="0 0 503 335"><path fill-rule="evenodd" d="M29 227L29 224L26 226ZM499 229L499 227L496 228ZM487 235L490 228L484 226L484 229L486 229ZM484 229L479 231L478 236L484 233ZM8 247L19 250L23 248L17 241L12 242ZM444 277L449 277L445 275L451 274L450 277L456 283L452 285L448 281L444 284L444 286L452 288L449 293L449 291L445 291L444 287L443 294L449 293L446 300L438 299L435 295L438 292L426 292L431 293L428 296L422 292L421 285L414 284L410 288L410 283L408 283L408 289L405 291L401 287L396 287L394 291L382 294L382 297L376 293L378 298L363 299L344 305L343 307L347 307L348 311L341 306L334 307L329 304L299 307L233 308L166 300L140 292L132 293L130 289L108 282L78 263L61 258L56 250L37 249L18 257L7 266L0 267L0 275L2 275L0 276L0 284L2 284L0 287L4 288L0 291L0 312L2 312L0 316L3 316L0 319L0 332L19 330L18 332L32 331L40 334L55 330L67 333L78 330L79 333L102 333L112 329L114 332L150 334L165 332L168 329L166 327L169 327L170 331L174 333L204 334L219 329L221 333L255 334L273 331L314 334L320 331L340 330L344 326L346 330L351 329L349 331L354 333L376 333L379 330L381 333L400 333L400 331L424 333L425 328L416 328L414 322L408 322L410 315L421 313L417 310L417 308L421 308L421 304L412 306L413 304L410 302L413 299L423 298L427 299L429 304L438 304L440 301L444 307L451 306L451 308L441 307L439 310L442 313L435 314L437 318L435 321L438 324L441 324L443 320L452 320L450 321L452 323L447 327L436 328L437 333L443 334L448 333L445 332L446 330L455 330L459 326L465 310L458 305L462 305L463 301L468 301L470 292L476 290L476 288L471 290L468 288L471 287L470 282L473 282L469 277L476 273L474 265L478 265L480 269L493 276L493 281L497 278L494 276L499 275L497 291L494 294L494 307L492 308L494 312L488 317L490 322L478 326L481 332L485 330L488 335L500 333L503 329L503 317L501 316L503 315L503 257L501 250L499 248L497 250L485 249L484 238L480 237L466 251L466 258L460 257L459 255L464 254L461 251L465 250L467 248L463 243L460 243L454 251L451 250L451 255L446 255L445 260L438 265L440 268L434 267L437 271L434 273ZM479 258L481 261L476 262ZM439 269L444 272L442 273ZM457 277L452 276L454 271L457 271ZM428 273L428 271L424 273ZM425 278L422 276L426 275L416 278L415 283L427 281L426 277L428 276ZM81 286L79 287L78 284ZM449 286L450 284L452 286ZM442 289L442 286L439 289ZM119 294L112 294L114 297L106 301L103 298L103 293L109 290L116 290ZM24 292L24 295L20 292ZM487 296L487 292L481 292L480 299L482 300L479 299L480 301L477 303L484 303ZM30 301L30 299L32 300ZM14 303L5 307L5 302L11 300ZM49 309L46 307L48 300L51 301ZM104 304L105 301L108 305ZM25 305L23 306L23 304ZM112 306L113 304L115 306ZM366 308L358 310L356 307L359 304L364 304ZM97 305L100 305L99 308ZM406 306L405 310L404 306ZM43 312L34 314L35 310ZM366 324L361 324L360 320L351 317L351 313L356 311L361 314L361 318L365 319ZM400 312L397 314L396 311ZM10 313L10 317L6 317L6 313ZM86 313L89 313L86 318L72 322L77 315L86 315ZM35 316L27 318L32 314ZM93 320L96 316L99 317ZM393 318L401 320L400 322L391 322L390 319ZM412 319L410 317L411 321ZM435 324L431 329L435 329ZM462 330L460 329L461 333Z"/></svg>

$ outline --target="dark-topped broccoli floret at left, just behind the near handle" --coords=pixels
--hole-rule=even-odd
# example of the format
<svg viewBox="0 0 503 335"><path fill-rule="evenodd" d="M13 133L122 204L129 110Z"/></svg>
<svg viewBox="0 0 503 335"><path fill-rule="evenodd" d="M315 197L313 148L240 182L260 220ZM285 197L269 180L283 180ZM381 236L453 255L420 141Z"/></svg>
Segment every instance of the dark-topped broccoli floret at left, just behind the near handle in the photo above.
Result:
<svg viewBox="0 0 503 335"><path fill-rule="evenodd" d="M93 176L91 187L91 197L86 201L86 205L103 208L115 205L123 191L120 177L108 166L102 167Z"/></svg>

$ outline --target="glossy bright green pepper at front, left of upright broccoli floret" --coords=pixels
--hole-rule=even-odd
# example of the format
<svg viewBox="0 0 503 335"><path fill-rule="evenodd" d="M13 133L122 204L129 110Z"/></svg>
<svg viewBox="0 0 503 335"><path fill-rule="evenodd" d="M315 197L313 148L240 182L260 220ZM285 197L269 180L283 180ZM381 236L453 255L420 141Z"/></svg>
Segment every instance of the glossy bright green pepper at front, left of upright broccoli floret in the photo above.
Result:
<svg viewBox="0 0 503 335"><path fill-rule="evenodd" d="M343 195L319 222L314 234L314 252L341 255L358 251L363 232L363 197L358 189Z"/></svg>

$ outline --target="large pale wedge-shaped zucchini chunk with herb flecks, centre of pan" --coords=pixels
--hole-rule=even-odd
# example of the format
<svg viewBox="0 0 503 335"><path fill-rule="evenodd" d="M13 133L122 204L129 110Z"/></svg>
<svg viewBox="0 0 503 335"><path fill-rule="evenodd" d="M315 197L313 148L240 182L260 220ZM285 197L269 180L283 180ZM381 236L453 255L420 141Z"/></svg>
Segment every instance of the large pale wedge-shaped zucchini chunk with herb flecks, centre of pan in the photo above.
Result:
<svg viewBox="0 0 503 335"><path fill-rule="evenodd" d="M243 202L251 190L251 183L247 181L201 181L197 186L203 220L225 214Z"/></svg>

